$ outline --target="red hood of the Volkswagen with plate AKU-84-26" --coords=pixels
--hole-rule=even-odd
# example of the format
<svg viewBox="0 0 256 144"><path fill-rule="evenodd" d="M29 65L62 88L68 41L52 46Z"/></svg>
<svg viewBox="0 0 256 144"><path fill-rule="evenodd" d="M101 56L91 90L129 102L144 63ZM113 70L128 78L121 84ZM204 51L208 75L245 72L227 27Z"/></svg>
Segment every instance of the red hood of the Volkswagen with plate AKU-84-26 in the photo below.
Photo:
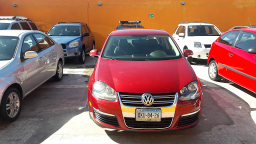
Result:
<svg viewBox="0 0 256 144"><path fill-rule="evenodd" d="M96 80L117 92L178 92L196 80L193 69L184 58L154 61L124 61L101 58Z"/></svg>

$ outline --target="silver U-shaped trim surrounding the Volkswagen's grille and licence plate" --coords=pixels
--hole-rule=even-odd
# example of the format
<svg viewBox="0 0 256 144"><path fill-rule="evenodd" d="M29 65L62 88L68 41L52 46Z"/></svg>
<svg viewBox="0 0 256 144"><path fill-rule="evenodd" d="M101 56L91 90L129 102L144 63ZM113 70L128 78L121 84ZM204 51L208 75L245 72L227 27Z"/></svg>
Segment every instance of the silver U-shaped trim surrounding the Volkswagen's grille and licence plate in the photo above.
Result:
<svg viewBox="0 0 256 144"><path fill-rule="evenodd" d="M132 128L132 129L165 129L165 128L170 127L170 125L172 124L173 117L174 117L174 114L175 114L175 109L176 109L177 97L178 97L178 93L177 92L175 94L175 99L174 99L174 102L172 103L172 105L170 105L170 106L162 106L162 107L126 106L126 105L123 105L119 92L117 92L117 95L118 95L118 99L119 99L119 102L120 102L120 107L121 107L121 111L122 111L123 121L124 121L124 124L125 124L126 127ZM134 127L129 127L129 126L126 125L124 117L135 118L135 109L136 108L148 108L148 109L160 108L161 109L161 117L172 117L171 123L170 123L170 125L168 127L163 127L163 128L134 128ZM128 111L132 111L132 112L124 112L124 109L128 110ZM170 112L162 112L162 111L170 111Z"/></svg>

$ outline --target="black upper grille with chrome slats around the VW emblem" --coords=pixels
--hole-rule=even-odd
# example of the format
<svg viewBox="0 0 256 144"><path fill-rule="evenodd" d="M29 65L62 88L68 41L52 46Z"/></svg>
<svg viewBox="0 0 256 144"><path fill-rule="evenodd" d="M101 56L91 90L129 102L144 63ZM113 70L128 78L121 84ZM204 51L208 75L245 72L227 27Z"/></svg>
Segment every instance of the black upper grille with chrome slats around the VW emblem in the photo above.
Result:
<svg viewBox="0 0 256 144"><path fill-rule="evenodd" d="M127 93L127 92L118 92L121 102L126 106L145 106L142 103L141 95L143 93ZM154 97L154 102L150 106L146 107L162 107L170 106L173 104L175 99L175 92L173 93L151 93Z"/></svg>

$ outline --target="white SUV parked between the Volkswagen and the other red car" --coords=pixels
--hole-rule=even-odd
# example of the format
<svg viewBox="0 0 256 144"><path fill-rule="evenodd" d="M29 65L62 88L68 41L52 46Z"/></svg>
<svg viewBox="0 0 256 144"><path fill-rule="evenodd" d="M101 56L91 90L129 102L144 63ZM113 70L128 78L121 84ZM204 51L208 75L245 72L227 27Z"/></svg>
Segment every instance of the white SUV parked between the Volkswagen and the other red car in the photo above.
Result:
<svg viewBox="0 0 256 144"><path fill-rule="evenodd" d="M221 32L218 28L207 22L181 22L174 30L172 37L177 42L179 48L193 51L191 57L187 57L189 63L193 58L207 59L210 47Z"/></svg>

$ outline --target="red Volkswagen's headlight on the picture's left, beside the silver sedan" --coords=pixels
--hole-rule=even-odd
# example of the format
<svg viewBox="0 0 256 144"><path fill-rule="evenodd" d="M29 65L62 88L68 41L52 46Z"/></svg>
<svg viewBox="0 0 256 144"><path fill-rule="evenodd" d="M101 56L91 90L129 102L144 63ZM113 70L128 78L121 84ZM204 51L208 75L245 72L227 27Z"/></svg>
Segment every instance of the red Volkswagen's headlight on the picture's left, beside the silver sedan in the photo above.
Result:
<svg viewBox="0 0 256 144"><path fill-rule="evenodd" d="M92 95L96 98L110 101L114 101L117 97L114 89L101 81L95 81L93 83Z"/></svg>

